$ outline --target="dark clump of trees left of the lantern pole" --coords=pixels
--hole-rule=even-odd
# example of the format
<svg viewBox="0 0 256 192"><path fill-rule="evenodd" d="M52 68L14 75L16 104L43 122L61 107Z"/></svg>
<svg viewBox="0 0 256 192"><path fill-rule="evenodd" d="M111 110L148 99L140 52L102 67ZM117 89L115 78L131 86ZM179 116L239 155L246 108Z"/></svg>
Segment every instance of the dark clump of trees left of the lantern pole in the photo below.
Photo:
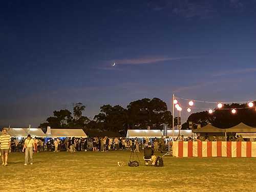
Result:
<svg viewBox="0 0 256 192"><path fill-rule="evenodd" d="M100 113L93 120L82 116L86 106L82 103L73 104L73 113L69 110L54 111L47 122L38 127L65 128L101 131L127 131L128 129L162 129L163 124L172 126L172 113L167 104L159 98L140 99L131 102L126 108L110 104L100 107Z"/></svg>

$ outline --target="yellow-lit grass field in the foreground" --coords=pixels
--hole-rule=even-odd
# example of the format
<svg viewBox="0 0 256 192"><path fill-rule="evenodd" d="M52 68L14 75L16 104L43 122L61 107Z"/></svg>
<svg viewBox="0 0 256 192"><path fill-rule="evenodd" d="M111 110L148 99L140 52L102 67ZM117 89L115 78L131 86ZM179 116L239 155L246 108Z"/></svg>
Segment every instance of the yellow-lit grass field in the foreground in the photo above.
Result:
<svg viewBox="0 0 256 192"><path fill-rule="evenodd" d="M137 154L139 167L127 166L130 151L40 152L28 166L24 153L10 153L9 165L0 167L0 191L256 191L255 158L166 155L163 167L146 167Z"/></svg>

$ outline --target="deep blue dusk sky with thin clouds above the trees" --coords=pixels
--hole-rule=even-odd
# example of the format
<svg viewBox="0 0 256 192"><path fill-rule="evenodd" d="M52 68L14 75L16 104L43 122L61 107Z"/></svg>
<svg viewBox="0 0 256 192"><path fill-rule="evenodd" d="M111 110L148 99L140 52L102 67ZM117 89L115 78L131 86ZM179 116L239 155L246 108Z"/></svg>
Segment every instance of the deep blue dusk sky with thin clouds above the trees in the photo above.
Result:
<svg viewBox="0 0 256 192"><path fill-rule="evenodd" d="M77 102L93 118L142 98L172 111L173 94L255 100L255 10L255 0L0 1L0 127L37 127Z"/></svg>

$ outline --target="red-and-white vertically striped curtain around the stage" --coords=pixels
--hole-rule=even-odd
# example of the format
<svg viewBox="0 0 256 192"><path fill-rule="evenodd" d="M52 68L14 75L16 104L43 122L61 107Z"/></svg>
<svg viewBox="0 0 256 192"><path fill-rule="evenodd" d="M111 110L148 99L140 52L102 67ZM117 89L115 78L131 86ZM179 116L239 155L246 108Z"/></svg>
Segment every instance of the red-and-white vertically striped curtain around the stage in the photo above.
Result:
<svg viewBox="0 0 256 192"><path fill-rule="evenodd" d="M174 141L175 157L256 157L256 142Z"/></svg>

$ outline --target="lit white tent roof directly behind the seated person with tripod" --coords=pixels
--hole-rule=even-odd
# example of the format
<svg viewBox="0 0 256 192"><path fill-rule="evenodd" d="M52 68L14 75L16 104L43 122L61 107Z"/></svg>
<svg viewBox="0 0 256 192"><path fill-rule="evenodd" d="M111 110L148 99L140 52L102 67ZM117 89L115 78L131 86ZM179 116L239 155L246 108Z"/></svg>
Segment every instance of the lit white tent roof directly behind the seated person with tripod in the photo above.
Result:
<svg viewBox="0 0 256 192"><path fill-rule="evenodd" d="M161 137L161 130L127 130L126 137L138 137L138 138L151 138L151 137Z"/></svg>

